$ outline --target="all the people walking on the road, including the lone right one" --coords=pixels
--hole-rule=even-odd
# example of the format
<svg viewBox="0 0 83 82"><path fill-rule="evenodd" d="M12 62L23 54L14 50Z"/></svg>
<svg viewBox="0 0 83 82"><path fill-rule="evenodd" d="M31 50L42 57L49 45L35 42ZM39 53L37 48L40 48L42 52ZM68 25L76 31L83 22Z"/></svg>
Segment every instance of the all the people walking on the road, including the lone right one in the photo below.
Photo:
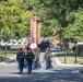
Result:
<svg viewBox="0 0 83 82"><path fill-rule="evenodd" d="M38 60L39 60L39 54L38 50L33 51L29 47L26 47L25 51L23 48L19 49L19 52L16 54L16 60L19 62L19 74L23 73L24 62L26 61L26 67L28 68L28 74L32 73L32 69L35 69L37 67ZM50 48L46 49L45 56L44 56L45 62L46 62L46 69L50 68L51 63L51 52Z"/></svg>

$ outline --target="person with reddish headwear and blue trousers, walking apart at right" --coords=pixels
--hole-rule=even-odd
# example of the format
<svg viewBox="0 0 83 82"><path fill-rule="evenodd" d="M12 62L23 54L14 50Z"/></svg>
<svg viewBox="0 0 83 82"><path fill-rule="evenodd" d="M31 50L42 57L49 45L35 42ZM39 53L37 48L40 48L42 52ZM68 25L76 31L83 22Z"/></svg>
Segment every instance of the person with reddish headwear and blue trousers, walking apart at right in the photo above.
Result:
<svg viewBox="0 0 83 82"><path fill-rule="evenodd" d="M49 47L46 49L44 59L45 59L45 63L46 63L46 69L49 69L50 68L50 63L51 63L51 52L50 52L50 48Z"/></svg>

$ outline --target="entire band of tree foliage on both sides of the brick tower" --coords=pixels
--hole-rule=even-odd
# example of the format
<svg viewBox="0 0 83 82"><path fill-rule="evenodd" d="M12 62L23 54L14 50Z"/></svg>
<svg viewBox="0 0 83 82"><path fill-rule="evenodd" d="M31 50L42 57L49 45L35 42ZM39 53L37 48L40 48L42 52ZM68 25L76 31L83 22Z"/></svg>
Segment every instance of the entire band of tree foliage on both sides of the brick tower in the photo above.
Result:
<svg viewBox="0 0 83 82"><path fill-rule="evenodd" d="M0 34L24 37L29 33L31 12L42 19L42 36L56 31L60 39L83 40L83 0L1 0Z"/></svg>

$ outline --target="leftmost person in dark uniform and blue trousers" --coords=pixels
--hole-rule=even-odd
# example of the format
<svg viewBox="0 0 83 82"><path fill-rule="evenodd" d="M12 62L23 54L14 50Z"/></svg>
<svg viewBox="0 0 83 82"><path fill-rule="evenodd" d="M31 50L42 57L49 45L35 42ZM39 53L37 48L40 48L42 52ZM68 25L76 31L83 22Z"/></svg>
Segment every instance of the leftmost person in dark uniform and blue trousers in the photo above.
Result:
<svg viewBox="0 0 83 82"><path fill-rule="evenodd" d="M19 74L23 73L24 58L25 58L25 52L23 51L23 48L20 48L19 52L16 54L16 60L19 62L19 69L20 69Z"/></svg>

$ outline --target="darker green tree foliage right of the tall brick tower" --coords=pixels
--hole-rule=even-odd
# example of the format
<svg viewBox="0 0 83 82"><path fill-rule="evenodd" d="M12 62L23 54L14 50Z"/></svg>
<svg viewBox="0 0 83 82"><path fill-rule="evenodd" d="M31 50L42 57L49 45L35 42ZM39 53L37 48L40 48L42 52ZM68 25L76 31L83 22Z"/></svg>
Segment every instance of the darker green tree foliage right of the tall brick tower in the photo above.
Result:
<svg viewBox="0 0 83 82"><path fill-rule="evenodd" d="M56 30L60 39L83 40L82 0L39 0L39 5L36 5L35 9L45 22L43 36L49 36Z"/></svg>

